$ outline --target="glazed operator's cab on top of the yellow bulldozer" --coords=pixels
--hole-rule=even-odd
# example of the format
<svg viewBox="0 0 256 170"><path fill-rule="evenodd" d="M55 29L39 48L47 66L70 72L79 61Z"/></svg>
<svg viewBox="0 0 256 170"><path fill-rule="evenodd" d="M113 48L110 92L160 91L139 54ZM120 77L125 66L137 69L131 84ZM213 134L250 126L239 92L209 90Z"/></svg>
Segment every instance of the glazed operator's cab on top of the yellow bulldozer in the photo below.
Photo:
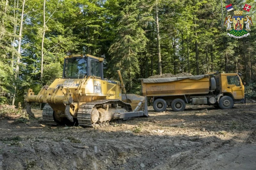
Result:
<svg viewBox="0 0 256 170"><path fill-rule="evenodd" d="M103 80L103 58L89 54L69 55L64 59L63 79L100 77Z"/></svg>

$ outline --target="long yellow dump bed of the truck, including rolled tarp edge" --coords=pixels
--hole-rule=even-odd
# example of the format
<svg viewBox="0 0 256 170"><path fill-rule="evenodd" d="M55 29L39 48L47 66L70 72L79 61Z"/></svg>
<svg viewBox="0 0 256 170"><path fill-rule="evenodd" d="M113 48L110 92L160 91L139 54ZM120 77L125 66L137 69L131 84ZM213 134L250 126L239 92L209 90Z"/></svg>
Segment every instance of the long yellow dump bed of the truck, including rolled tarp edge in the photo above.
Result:
<svg viewBox="0 0 256 170"><path fill-rule="evenodd" d="M208 94L210 75L141 79L142 96Z"/></svg>

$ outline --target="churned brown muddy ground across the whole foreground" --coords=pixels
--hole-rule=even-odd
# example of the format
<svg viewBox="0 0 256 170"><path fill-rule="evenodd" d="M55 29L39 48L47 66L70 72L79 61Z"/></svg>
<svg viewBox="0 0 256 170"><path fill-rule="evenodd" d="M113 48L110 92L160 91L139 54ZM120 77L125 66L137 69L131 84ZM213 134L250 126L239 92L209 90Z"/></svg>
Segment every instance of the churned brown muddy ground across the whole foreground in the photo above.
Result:
<svg viewBox="0 0 256 170"><path fill-rule="evenodd" d="M256 104L188 105L100 128L0 120L0 169L256 169Z"/></svg>

